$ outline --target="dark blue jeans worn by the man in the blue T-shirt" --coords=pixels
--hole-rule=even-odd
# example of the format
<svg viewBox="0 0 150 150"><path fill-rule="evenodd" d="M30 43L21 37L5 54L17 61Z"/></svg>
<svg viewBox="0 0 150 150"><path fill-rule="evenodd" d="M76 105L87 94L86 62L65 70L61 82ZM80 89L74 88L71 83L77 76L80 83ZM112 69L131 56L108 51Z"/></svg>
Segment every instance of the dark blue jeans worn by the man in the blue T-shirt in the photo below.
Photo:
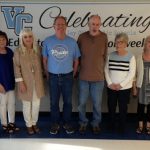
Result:
<svg viewBox="0 0 150 150"><path fill-rule="evenodd" d="M73 72L67 74L49 73L50 107L52 123L59 123L59 99L63 97L63 121L68 123L72 113Z"/></svg>

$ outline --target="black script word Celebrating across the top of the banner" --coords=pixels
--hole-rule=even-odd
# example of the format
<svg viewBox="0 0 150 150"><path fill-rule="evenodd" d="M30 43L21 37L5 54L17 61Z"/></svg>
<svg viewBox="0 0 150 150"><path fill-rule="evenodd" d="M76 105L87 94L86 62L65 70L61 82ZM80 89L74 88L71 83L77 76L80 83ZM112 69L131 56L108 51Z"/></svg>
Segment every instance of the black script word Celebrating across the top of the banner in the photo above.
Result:
<svg viewBox="0 0 150 150"><path fill-rule="evenodd" d="M47 8L41 13L39 24L42 28L48 29L53 27L54 19L62 15L62 9L58 6ZM84 15L79 16L79 12L73 11L67 17L68 27L85 27L88 24L91 12L86 12ZM50 20L46 23L46 20ZM103 27L123 27L123 28L140 28L139 33L145 32L150 26L150 16L134 16L133 14L120 14L118 16L108 16L102 22Z"/></svg>

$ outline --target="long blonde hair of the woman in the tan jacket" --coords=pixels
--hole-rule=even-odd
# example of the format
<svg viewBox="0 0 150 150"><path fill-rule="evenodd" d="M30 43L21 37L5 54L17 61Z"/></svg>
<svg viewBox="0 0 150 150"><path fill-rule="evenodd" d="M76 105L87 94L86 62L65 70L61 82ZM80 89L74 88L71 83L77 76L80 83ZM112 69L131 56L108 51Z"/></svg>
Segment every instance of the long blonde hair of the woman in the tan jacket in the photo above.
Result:
<svg viewBox="0 0 150 150"><path fill-rule="evenodd" d="M33 46L33 51L37 52L38 45L37 45L37 42L36 42L36 38L35 38L33 32L31 31L31 29L27 29L27 28L21 30L21 32L19 34L19 45L20 45L19 50L22 51L23 53L25 53L26 50L27 50L26 46L23 43L23 36L24 35L32 35L32 37L33 37L33 45L32 45Z"/></svg>

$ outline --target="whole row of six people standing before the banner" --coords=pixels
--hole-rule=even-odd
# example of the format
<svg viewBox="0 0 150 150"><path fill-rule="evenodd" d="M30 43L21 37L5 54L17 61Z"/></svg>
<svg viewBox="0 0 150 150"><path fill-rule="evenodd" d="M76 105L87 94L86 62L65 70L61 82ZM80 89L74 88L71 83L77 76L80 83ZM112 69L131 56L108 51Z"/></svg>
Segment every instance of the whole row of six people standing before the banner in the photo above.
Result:
<svg viewBox="0 0 150 150"><path fill-rule="evenodd" d="M89 31L79 35L77 42L66 34L67 21L63 16L54 20L55 34L47 37L41 49L33 32L24 29L19 35L19 47L14 54L5 32L0 31L0 116L2 129L7 133L20 130L15 124L15 87L22 100L23 116L28 134L39 133L37 126L40 99L45 95L43 74L49 83L51 126L57 134L62 127L67 134L74 133L71 124L72 88L79 71L79 132L85 133L89 124L86 103L91 96L94 134L100 133L101 103L105 80L107 82L110 128L116 127L115 112L119 106L121 132L125 132L127 105L131 88L139 95L137 133L144 131L144 108L147 106L146 131L150 134L149 66L150 37L145 40L144 51L137 61L126 50L128 36L115 37L116 50L107 54L107 35L100 31L101 18L89 18ZM136 69L137 66L137 69ZM44 70L44 71L43 71ZM15 86L16 82L16 86ZM63 98L63 123L60 123L59 99ZM7 121L8 112L8 121Z"/></svg>

